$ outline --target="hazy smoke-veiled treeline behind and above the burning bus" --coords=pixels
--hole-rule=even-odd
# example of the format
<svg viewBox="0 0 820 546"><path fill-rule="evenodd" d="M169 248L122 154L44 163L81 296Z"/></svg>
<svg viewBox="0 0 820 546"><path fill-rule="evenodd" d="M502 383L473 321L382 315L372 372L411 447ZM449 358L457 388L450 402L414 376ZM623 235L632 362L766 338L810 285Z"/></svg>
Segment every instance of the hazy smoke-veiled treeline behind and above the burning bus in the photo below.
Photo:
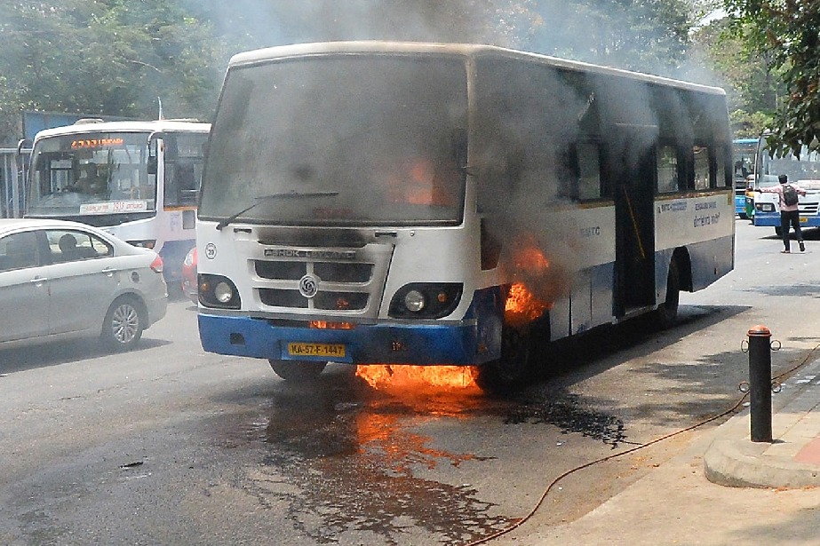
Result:
<svg viewBox="0 0 820 546"><path fill-rule="evenodd" d="M209 121L232 54L298 42L497 44L715 83L688 60L692 29L720 1L8 0L0 12L0 144L20 138L10 120L22 110L150 119L160 98L167 117ZM744 24L757 31L753 21ZM766 32L753 36L768 44ZM721 59L720 71L731 73L733 62L745 62L744 52ZM752 67L754 78L727 81L737 86L739 112L765 115L755 102L760 64Z"/></svg>

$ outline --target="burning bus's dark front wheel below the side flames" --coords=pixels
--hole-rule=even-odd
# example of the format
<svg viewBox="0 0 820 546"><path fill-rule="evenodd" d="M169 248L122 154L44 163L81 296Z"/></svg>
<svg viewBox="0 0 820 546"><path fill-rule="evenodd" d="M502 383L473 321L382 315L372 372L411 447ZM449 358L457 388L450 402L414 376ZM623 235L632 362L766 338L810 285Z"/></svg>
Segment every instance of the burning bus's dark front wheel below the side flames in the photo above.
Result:
<svg viewBox="0 0 820 546"><path fill-rule="evenodd" d="M531 371L529 328L505 327L501 358L479 368L475 383L484 392L507 392L521 385Z"/></svg>

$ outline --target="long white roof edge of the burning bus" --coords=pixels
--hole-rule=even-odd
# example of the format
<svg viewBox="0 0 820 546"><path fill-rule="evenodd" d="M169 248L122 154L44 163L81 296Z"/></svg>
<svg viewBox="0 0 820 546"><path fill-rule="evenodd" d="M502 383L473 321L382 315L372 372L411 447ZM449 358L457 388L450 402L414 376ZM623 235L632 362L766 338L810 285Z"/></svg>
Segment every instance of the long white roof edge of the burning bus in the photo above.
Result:
<svg viewBox="0 0 820 546"><path fill-rule="evenodd" d="M675 80L672 78L666 78L658 75L642 74L640 72L633 72L630 70L624 70L622 68L604 67L601 65L593 65L590 63L580 62L576 60L559 59L556 57L541 55L539 53L530 53L526 51L518 51L504 47L498 47L495 45L485 44L439 44L426 42L358 41L316 42L311 44L279 45L265 49L237 53L231 58L228 67L230 68L252 65L273 59L287 59L293 57L306 57L313 55L329 55L334 53L351 55L368 53L422 53L453 55L465 58L481 57L485 55L496 55L501 57L508 57L510 59L518 59L522 61L541 62L547 65L552 65L554 67L576 70L578 72L593 72L597 74L626 77L647 83L670 85L673 87L689 91L699 91L716 95L726 94L726 92L720 89L719 87L711 87L708 85L684 82L682 80Z"/></svg>

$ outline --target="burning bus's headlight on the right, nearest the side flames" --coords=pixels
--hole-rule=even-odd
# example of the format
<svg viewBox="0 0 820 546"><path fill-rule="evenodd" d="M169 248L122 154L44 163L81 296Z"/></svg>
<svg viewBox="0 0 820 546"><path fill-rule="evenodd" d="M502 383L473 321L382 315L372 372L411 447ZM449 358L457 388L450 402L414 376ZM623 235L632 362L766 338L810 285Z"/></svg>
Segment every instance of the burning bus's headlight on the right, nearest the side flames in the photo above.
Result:
<svg viewBox="0 0 820 546"><path fill-rule="evenodd" d="M398 289L389 314L397 319L440 319L461 301L464 286L458 282L413 282Z"/></svg>

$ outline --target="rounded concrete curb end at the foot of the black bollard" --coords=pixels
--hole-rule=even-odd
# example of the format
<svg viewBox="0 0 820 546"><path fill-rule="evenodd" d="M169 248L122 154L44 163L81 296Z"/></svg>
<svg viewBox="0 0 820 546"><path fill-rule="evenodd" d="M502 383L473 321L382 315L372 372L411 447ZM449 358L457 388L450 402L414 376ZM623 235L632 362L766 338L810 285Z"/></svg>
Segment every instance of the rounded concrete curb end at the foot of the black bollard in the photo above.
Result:
<svg viewBox="0 0 820 546"><path fill-rule="evenodd" d="M704 455L706 479L727 487L820 487L820 467L770 457L772 444L715 439Z"/></svg>

